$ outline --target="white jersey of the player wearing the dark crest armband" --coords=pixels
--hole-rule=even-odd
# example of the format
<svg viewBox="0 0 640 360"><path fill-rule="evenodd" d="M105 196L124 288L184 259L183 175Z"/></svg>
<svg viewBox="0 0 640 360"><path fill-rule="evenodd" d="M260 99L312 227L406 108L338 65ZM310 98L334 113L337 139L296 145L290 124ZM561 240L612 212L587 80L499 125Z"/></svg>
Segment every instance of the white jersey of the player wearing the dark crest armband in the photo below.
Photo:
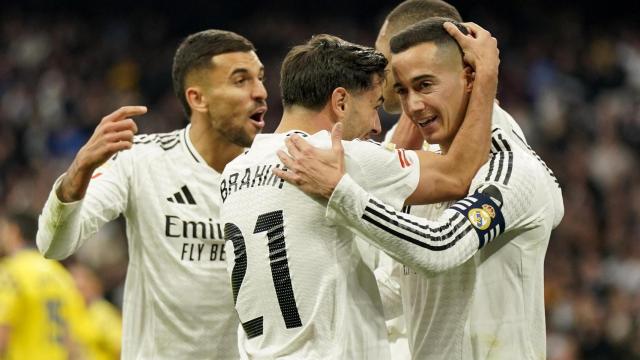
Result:
<svg viewBox="0 0 640 360"><path fill-rule="evenodd" d="M558 183L496 105L491 157L458 202L392 211L344 179L328 216L408 264L414 359L544 359L544 257L564 213ZM358 198L358 201L355 199Z"/></svg>

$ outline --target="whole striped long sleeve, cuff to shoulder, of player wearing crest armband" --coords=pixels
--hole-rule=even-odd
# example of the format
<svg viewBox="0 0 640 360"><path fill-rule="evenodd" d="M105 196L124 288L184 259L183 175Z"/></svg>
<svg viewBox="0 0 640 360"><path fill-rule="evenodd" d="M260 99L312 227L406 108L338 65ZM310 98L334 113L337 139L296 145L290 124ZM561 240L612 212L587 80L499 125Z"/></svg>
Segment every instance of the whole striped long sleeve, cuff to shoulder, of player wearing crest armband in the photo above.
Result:
<svg viewBox="0 0 640 360"><path fill-rule="evenodd" d="M474 178L470 194L437 220L396 211L348 175L334 190L327 217L345 224L415 270L448 270L467 261L500 234L535 226L547 211L538 187L542 183L540 169L525 160L515 164L513 154L509 154L495 154Z"/></svg>

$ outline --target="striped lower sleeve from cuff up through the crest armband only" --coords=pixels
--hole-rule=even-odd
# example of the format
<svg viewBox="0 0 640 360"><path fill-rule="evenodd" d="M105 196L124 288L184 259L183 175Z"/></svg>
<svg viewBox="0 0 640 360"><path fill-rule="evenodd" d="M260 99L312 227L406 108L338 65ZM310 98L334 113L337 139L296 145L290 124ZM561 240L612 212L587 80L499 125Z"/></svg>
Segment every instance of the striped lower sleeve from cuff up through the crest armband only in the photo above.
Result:
<svg viewBox="0 0 640 360"><path fill-rule="evenodd" d="M504 231L500 207L476 193L446 209L437 220L396 211L348 175L334 190L327 217L415 270L440 272L467 261Z"/></svg>

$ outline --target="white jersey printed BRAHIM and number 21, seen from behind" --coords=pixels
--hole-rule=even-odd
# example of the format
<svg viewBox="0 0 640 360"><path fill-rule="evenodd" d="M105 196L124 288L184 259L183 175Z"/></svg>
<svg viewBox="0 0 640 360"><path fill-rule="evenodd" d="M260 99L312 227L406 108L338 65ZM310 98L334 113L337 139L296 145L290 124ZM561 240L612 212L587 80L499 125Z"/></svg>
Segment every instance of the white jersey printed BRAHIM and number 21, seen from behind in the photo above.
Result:
<svg viewBox="0 0 640 360"><path fill-rule="evenodd" d="M330 135L261 134L222 175L221 220L241 356L290 359L388 359L382 304L354 235L325 218L312 198L271 169L284 140L299 133L330 147ZM344 142L346 169L400 208L419 179L414 152L367 141Z"/></svg>

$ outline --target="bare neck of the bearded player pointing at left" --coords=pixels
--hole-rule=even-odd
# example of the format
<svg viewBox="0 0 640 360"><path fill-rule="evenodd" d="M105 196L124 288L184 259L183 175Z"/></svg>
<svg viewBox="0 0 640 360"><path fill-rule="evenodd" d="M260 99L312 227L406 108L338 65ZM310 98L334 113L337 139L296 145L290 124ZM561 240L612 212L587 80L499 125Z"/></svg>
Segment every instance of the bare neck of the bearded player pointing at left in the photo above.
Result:
<svg viewBox="0 0 640 360"><path fill-rule="evenodd" d="M244 147L229 142L205 121L191 121L189 139L204 161L219 173L244 151Z"/></svg>

